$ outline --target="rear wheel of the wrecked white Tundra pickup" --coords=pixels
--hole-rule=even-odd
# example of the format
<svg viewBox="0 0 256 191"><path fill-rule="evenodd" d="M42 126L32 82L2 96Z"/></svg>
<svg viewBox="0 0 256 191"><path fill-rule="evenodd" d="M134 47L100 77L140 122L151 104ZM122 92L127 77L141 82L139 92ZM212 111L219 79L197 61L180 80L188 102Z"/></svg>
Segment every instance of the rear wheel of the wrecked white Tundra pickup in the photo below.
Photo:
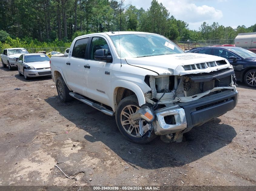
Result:
<svg viewBox="0 0 256 191"><path fill-rule="evenodd" d="M69 95L69 92L71 91L68 89L68 86L66 85L62 77L57 78L56 88L57 88L59 99L62 102L68 102L71 100L72 97Z"/></svg>

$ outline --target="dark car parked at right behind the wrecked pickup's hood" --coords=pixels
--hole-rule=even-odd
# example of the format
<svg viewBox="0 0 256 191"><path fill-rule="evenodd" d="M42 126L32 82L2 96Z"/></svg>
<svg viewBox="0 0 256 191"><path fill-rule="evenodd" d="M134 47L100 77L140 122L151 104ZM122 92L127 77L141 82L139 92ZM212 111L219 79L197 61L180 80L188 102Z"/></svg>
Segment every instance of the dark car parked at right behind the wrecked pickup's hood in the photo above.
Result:
<svg viewBox="0 0 256 191"><path fill-rule="evenodd" d="M252 88L256 88L256 54L232 46L207 46L198 47L188 51L188 53L210 54L220 56L228 60L233 65L235 75L238 81Z"/></svg>

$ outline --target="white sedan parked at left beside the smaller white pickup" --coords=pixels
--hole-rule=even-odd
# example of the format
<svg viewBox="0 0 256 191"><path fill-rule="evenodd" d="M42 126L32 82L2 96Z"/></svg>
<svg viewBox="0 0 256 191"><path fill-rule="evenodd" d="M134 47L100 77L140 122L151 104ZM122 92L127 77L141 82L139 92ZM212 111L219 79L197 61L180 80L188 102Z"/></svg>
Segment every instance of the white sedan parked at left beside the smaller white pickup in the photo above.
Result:
<svg viewBox="0 0 256 191"><path fill-rule="evenodd" d="M22 54L18 59L19 75L28 80L31 77L52 75L50 58L45 54Z"/></svg>

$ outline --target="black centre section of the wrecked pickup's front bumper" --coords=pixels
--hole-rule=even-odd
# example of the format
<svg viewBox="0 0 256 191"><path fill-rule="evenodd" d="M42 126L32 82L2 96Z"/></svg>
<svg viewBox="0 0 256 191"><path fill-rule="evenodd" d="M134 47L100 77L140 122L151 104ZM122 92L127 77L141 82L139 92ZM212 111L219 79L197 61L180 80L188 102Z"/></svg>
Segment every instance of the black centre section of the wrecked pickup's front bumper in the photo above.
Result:
<svg viewBox="0 0 256 191"><path fill-rule="evenodd" d="M179 106L185 110L187 128L192 128L232 110L237 101L238 92L226 90Z"/></svg>

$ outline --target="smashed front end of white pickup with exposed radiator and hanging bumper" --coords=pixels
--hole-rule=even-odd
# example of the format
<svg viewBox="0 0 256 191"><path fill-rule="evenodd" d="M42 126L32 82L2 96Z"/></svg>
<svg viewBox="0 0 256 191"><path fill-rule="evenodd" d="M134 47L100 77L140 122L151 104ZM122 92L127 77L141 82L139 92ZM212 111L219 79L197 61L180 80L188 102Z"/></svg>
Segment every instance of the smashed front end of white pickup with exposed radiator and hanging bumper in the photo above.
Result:
<svg viewBox="0 0 256 191"><path fill-rule="evenodd" d="M182 135L232 110L238 101L234 70L227 60L178 65L145 76L151 91L146 104L131 116L140 135L152 130L165 140L181 142ZM145 124L147 123L147 124Z"/></svg>

